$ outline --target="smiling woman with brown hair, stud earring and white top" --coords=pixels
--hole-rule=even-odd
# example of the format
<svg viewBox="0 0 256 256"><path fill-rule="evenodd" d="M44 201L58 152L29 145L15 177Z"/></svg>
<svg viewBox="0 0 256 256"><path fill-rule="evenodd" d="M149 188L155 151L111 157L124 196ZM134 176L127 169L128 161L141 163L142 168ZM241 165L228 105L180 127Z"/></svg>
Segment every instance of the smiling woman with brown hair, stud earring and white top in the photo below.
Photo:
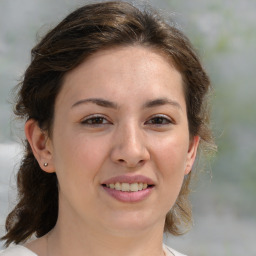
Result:
<svg viewBox="0 0 256 256"><path fill-rule="evenodd" d="M0 255L182 255L163 232L191 222L191 169L212 145L209 79L153 11L86 5L32 50L19 201ZM36 235L36 239L30 239Z"/></svg>

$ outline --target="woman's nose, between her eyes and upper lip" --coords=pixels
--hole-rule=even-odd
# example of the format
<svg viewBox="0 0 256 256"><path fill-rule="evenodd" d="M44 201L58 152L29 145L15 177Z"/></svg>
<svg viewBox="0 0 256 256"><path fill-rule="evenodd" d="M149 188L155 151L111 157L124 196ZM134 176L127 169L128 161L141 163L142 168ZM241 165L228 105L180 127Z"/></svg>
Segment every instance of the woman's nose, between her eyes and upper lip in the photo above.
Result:
<svg viewBox="0 0 256 256"><path fill-rule="evenodd" d="M117 128L111 150L113 162L127 168L143 165L150 159L143 131L136 125L123 125Z"/></svg>

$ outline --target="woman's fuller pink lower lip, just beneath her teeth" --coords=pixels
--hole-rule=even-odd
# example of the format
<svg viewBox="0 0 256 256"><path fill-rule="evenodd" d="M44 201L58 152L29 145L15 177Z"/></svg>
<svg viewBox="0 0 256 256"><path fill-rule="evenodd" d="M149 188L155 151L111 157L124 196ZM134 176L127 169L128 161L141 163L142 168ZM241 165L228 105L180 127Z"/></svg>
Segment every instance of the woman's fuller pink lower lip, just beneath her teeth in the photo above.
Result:
<svg viewBox="0 0 256 256"><path fill-rule="evenodd" d="M103 186L103 188L110 196L114 197L118 201L125 202L125 203L140 202L146 199L150 195L153 189L153 187L148 187L146 189L143 189L137 192L124 192L121 190L115 190L105 186Z"/></svg>

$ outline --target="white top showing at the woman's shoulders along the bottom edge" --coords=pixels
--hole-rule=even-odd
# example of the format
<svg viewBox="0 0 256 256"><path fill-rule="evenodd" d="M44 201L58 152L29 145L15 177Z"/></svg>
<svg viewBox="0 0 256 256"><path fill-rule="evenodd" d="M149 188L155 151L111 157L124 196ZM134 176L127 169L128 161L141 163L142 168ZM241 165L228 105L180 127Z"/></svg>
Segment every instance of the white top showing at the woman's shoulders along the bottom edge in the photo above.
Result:
<svg viewBox="0 0 256 256"><path fill-rule="evenodd" d="M163 245L163 249L166 256L185 256L166 245ZM0 256L37 256L37 254L22 245L14 245L4 251L0 251Z"/></svg>

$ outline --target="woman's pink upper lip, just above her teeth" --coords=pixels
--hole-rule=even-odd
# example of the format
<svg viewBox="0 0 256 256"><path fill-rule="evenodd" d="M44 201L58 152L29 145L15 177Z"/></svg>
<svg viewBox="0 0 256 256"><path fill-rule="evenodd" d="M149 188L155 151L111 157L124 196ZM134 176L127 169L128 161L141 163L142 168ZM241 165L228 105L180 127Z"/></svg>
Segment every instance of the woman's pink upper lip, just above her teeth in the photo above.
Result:
<svg viewBox="0 0 256 256"><path fill-rule="evenodd" d="M102 185L103 184L115 184L117 182L129 183L129 184L132 184L132 183L146 183L148 185L154 185L154 182L150 178L148 178L146 176L143 176L143 175L133 175L133 176L119 175L119 176L112 177L108 180L105 180L104 182L102 182Z"/></svg>

